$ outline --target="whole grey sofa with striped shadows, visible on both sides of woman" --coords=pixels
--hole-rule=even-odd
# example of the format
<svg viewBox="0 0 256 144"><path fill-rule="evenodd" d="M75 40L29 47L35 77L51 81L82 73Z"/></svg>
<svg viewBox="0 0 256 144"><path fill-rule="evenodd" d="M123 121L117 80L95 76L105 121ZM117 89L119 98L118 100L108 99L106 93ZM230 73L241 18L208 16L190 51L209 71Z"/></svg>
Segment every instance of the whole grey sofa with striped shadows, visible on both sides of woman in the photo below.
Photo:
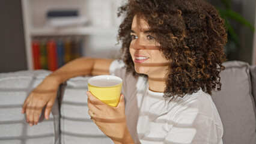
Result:
<svg viewBox="0 0 256 144"><path fill-rule="evenodd" d="M224 126L224 144L256 143L256 66L225 62L222 90L212 98ZM50 119L43 115L29 127L20 113L29 92L50 71L16 71L0 74L0 143L112 143L91 121L87 111L88 76L75 77L59 86Z"/></svg>

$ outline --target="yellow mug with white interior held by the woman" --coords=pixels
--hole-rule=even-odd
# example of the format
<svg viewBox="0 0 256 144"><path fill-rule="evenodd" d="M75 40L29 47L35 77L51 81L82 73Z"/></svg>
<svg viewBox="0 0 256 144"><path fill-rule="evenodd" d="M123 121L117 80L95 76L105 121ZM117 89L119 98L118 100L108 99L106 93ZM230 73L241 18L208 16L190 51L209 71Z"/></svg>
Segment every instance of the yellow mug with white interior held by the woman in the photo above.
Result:
<svg viewBox="0 0 256 144"><path fill-rule="evenodd" d="M123 80L117 76L100 75L88 79L91 94L113 107L119 102L122 84Z"/></svg>

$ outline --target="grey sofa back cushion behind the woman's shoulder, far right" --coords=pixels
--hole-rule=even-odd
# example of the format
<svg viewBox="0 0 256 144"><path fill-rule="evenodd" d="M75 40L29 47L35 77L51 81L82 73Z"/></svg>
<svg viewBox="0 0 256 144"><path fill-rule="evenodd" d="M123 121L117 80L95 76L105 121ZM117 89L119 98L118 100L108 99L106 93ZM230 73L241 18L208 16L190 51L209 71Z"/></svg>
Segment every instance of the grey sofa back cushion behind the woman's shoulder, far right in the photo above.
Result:
<svg viewBox="0 0 256 144"><path fill-rule="evenodd" d="M224 66L221 91L212 95L224 127L223 143L255 144L255 103L249 65L230 61Z"/></svg>

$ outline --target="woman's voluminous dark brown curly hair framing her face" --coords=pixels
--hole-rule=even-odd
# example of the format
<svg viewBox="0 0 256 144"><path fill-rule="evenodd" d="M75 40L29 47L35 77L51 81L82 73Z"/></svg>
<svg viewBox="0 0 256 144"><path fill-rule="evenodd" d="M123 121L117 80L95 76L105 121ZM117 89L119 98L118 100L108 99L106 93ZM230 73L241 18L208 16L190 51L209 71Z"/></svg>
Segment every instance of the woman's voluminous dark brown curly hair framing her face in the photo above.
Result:
<svg viewBox="0 0 256 144"><path fill-rule="evenodd" d="M135 72L129 52L133 17L144 19L160 44L159 50L170 60L164 97L192 94L203 89L221 90L219 73L225 69L224 46L227 29L218 11L203 0L129 0L118 8L124 16L118 30L122 42L121 59L128 73Z"/></svg>

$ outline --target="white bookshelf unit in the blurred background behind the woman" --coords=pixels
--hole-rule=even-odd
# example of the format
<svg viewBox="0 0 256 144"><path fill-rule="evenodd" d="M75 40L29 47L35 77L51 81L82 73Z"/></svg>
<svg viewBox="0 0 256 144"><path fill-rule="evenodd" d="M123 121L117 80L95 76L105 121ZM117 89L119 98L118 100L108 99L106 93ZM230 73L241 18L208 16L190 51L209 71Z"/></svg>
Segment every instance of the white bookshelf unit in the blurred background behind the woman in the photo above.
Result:
<svg viewBox="0 0 256 144"><path fill-rule="evenodd" d="M34 69L32 43L40 38L79 37L83 41L82 56L117 58L116 37L121 22L117 19L120 0L22 0L26 62ZM55 28L47 25L49 10L75 9L87 17L82 26Z"/></svg>

